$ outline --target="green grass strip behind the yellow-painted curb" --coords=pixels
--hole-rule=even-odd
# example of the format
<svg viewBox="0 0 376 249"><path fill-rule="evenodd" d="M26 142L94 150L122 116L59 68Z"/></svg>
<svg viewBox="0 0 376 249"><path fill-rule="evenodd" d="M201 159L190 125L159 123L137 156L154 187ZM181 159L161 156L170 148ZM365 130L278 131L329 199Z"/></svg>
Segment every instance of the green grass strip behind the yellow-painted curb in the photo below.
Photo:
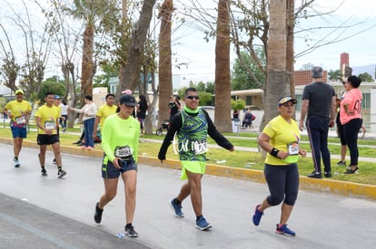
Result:
<svg viewBox="0 0 376 249"><path fill-rule="evenodd" d="M3 128L0 126L0 128ZM79 128L68 129L68 131L72 132L80 132ZM206 154L208 158L208 163L210 164L218 164L223 166L235 167L235 168L251 168L251 169L258 169L263 170L263 159L261 153L259 152L247 152L236 150L236 147L250 147L250 148L257 148L257 134L256 133L241 133L239 137L236 136L235 133L223 133L224 136L228 137L228 139L233 143L235 146L235 151L230 152L225 150L224 148L210 148L208 153ZM11 138L11 131L10 129L0 129L0 137L3 138ZM60 140L63 145L72 146L72 143L79 138L79 135L71 135L67 133L60 133ZM144 135L140 142L139 147L139 155L149 156L149 157L157 157L159 148L161 146L160 143L151 143L151 142L143 142L143 139L158 139L163 140L164 136L156 136L156 135ZM36 140L36 132L30 131L28 134L27 140L35 141ZM359 146L361 147L360 156L364 158L376 158L376 153L374 153L375 148L367 148L367 145L375 145L376 140L374 139L360 139ZM214 144L213 139L208 139L210 144ZM340 154L340 143L339 139L337 138L330 138L329 139L329 149L332 155L339 155ZM101 148L100 145L95 145L95 148ZM310 144L308 142L308 138L306 136L302 136L302 148L306 149L308 152L311 151ZM167 151L166 158L169 159L178 159L178 156L173 153L173 147L170 146L169 150ZM221 161L225 161L221 163ZM339 174L334 175L332 179L338 179L343 181L350 181L355 183L362 183L362 184L371 184L376 185L376 163L372 162L362 162L359 163L360 174L354 175L343 175L342 173L345 171L344 167L337 166L337 159L331 160L331 170L332 173L338 172ZM306 176L312 172L312 158L300 158L299 163L299 170L302 176Z"/></svg>

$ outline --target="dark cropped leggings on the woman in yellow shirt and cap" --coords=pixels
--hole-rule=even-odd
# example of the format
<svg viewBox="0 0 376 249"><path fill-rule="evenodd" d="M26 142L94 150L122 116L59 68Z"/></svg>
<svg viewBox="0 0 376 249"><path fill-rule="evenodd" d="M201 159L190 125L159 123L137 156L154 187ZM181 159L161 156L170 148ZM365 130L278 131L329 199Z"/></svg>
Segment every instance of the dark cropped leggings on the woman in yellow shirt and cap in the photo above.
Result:
<svg viewBox="0 0 376 249"><path fill-rule="evenodd" d="M271 206L277 206L282 201L290 206L295 204L299 190L298 166L290 165L269 165L265 164L263 173L268 183L270 196L266 201Z"/></svg>

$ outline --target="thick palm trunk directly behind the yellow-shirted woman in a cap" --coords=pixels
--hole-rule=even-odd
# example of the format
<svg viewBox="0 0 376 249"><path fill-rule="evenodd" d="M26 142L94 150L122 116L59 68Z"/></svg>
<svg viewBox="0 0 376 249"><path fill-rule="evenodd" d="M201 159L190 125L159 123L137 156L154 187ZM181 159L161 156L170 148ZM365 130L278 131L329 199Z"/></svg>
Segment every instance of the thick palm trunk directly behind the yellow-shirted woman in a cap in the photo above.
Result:
<svg viewBox="0 0 376 249"><path fill-rule="evenodd" d="M277 100L289 95L286 73L286 0L270 2L270 29L268 40L268 77L266 81L265 123L276 117Z"/></svg>

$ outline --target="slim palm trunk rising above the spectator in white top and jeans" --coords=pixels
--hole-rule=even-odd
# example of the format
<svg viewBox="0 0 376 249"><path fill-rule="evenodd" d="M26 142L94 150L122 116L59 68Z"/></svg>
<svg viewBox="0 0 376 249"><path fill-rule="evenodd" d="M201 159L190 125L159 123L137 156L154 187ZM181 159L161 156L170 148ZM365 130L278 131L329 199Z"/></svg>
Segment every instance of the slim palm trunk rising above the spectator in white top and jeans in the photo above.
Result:
<svg viewBox="0 0 376 249"><path fill-rule="evenodd" d="M84 106L84 95L93 95L93 77L94 77L94 24L86 24L84 30L84 48L83 62L81 68L81 95L80 106Z"/></svg>

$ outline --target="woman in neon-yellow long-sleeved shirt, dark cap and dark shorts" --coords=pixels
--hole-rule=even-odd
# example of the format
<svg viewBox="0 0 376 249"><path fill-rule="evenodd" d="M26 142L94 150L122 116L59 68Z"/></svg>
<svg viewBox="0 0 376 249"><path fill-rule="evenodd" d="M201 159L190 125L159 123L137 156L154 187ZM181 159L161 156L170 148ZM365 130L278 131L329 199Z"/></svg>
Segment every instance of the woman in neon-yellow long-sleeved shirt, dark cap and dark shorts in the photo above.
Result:
<svg viewBox="0 0 376 249"><path fill-rule="evenodd" d="M136 202L140 124L132 117L137 104L134 96L124 94L119 102L120 111L107 117L102 130L104 195L95 205L94 221L97 224L101 223L104 206L116 196L120 176L124 182L125 192L125 235L137 237L138 234L134 231L132 223ZM126 130L126 132L119 132L119 130Z"/></svg>

